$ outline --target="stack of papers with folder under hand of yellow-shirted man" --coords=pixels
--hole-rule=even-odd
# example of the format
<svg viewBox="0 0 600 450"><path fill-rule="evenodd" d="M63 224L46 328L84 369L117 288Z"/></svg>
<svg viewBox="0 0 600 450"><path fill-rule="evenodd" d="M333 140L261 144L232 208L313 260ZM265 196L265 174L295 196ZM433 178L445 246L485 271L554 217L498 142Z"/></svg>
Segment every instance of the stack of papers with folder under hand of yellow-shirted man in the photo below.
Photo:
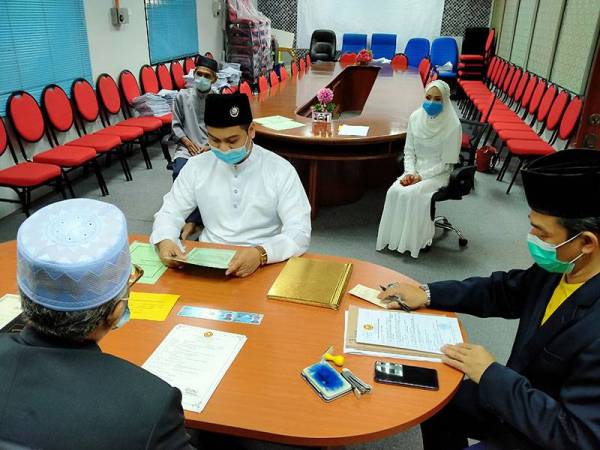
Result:
<svg viewBox="0 0 600 450"><path fill-rule="evenodd" d="M461 342L455 317L356 306L346 311L345 353L440 361L442 346Z"/></svg>

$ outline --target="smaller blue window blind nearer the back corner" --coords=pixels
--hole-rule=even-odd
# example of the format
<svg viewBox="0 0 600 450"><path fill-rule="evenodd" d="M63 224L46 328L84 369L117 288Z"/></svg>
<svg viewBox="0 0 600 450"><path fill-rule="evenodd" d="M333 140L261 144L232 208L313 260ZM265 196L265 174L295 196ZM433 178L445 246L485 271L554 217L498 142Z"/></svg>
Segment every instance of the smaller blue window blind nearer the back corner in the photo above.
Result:
<svg viewBox="0 0 600 450"><path fill-rule="evenodd" d="M198 53L196 0L145 0L150 63Z"/></svg>

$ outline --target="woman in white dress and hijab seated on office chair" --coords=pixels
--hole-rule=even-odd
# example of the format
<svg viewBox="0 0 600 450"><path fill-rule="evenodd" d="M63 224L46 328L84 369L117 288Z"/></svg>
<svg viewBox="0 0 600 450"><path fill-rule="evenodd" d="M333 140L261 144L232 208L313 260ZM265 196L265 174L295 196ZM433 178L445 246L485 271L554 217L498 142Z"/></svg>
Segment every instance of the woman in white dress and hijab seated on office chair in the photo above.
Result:
<svg viewBox="0 0 600 450"><path fill-rule="evenodd" d="M448 184L458 162L462 128L442 80L425 88L425 101L410 115L404 144L404 173L388 190L377 234L377 250L410 251L431 245L435 225L431 197Z"/></svg>

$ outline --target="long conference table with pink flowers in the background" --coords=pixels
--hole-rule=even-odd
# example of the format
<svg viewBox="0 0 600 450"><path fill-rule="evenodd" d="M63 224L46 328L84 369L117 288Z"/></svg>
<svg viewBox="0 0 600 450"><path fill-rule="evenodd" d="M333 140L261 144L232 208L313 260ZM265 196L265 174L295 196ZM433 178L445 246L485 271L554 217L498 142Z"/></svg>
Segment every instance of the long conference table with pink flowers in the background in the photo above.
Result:
<svg viewBox="0 0 600 450"><path fill-rule="evenodd" d="M351 114L331 123L313 123L310 106L316 103L317 91L326 86L334 91L338 112ZM314 218L319 205L352 202L368 184L391 183L408 118L422 100L423 85L416 69L319 62L251 102L255 118L280 115L306 126L277 131L256 123L255 141L294 163L305 182ZM344 124L368 126L368 134L340 135Z"/></svg>

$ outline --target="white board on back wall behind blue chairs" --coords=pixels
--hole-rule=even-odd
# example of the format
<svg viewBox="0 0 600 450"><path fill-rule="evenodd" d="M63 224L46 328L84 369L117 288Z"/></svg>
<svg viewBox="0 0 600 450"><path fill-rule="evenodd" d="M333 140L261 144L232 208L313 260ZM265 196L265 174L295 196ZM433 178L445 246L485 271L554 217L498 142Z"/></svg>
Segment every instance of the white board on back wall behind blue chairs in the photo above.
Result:
<svg viewBox="0 0 600 450"><path fill-rule="evenodd" d="M344 33L396 34L396 52L413 37L440 35L444 0L298 0L298 48L310 48L314 30L333 30L338 50Z"/></svg>

